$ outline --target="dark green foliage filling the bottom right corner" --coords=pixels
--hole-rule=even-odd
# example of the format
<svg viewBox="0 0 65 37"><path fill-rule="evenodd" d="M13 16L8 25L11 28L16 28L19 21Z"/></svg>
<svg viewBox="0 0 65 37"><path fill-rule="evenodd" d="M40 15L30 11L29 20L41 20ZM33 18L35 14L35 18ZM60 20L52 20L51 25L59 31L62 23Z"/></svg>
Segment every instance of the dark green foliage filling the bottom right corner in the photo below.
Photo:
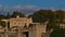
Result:
<svg viewBox="0 0 65 37"><path fill-rule="evenodd" d="M56 28L54 29L50 37L65 37L65 28Z"/></svg>

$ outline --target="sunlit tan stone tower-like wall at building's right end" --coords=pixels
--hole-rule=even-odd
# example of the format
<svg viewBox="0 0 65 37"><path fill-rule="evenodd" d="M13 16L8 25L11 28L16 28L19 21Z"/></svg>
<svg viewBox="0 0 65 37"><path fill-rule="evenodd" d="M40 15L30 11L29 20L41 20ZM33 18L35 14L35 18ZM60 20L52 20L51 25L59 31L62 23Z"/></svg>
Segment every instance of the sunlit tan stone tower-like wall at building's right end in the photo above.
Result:
<svg viewBox="0 0 65 37"><path fill-rule="evenodd" d="M42 25L42 24L37 25L36 26L36 37L41 37L41 35L46 33L46 28L47 28L47 25Z"/></svg>

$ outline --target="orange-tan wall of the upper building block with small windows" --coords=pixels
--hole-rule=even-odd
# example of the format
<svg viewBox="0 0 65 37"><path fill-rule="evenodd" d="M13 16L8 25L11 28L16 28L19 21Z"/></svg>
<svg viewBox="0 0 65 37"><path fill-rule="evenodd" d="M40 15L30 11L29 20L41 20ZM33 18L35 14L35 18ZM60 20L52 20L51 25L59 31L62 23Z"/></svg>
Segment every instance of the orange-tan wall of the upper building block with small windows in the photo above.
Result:
<svg viewBox="0 0 65 37"><path fill-rule="evenodd" d="M10 18L10 27L12 26L23 27L25 24L28 26L30 23L32 23L31 18L26 17Z"/></svg>

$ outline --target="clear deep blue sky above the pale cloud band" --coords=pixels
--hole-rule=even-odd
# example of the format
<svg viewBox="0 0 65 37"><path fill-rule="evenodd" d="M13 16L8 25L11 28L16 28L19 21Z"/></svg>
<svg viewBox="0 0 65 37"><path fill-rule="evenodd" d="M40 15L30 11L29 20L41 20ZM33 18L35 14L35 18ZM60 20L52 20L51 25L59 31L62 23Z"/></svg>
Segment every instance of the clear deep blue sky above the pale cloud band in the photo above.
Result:
<svg viewBox="0 0 65 37"><path fill-rule="evenodd" d="M0 0L3 7L35 5L41 9L65 9L65 0Z"/></svg>

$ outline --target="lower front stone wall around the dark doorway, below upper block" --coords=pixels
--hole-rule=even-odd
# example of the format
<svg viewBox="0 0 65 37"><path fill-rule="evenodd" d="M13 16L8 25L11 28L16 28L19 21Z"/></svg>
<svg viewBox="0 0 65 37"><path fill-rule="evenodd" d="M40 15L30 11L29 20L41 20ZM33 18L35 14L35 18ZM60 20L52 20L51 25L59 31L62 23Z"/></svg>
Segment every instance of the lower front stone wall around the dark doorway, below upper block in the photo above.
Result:
<svg viewBox="0 0 65 37"><path fill-rule="evenodd" d="M26 37L25 34L23 34L24 32L28 32L28 36L29 37L41 37L41 35L43 33L46 33L46 25L42 25L42 24L34 24L32 28L26 28L26 29L20 29L18 28L18 32L15 32L14 29L12 30L8 30L5 32L5 37ZM2 36L3 37L3 36ZM44 36L43 36L44 37Z"/></svg>

